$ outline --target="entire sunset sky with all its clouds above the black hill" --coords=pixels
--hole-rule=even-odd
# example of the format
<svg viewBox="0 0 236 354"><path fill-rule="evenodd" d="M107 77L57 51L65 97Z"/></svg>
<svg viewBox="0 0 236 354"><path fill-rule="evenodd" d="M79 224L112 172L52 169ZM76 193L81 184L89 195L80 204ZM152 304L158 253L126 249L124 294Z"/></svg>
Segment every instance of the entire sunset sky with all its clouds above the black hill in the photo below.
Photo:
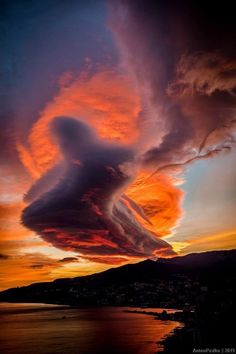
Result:
<svg viewBox="0 0 236 354"><path fill-rule="evenodd" d="M233 14L1 1L1 289L236 247Z"/></svg>

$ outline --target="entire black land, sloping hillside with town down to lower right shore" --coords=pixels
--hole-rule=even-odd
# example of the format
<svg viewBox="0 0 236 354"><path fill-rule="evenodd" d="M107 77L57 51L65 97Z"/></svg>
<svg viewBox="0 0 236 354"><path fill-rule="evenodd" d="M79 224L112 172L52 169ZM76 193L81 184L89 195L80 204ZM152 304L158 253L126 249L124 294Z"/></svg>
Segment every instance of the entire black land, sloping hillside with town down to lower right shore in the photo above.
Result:
<svg viewBox="0 0 236 354"><path fill-rule="evenodd" d="M236 250L214 251L9 289L0 301L177 308L155 314L185 324L165 339L164 353L235 353L235 280Z"/></svg>

